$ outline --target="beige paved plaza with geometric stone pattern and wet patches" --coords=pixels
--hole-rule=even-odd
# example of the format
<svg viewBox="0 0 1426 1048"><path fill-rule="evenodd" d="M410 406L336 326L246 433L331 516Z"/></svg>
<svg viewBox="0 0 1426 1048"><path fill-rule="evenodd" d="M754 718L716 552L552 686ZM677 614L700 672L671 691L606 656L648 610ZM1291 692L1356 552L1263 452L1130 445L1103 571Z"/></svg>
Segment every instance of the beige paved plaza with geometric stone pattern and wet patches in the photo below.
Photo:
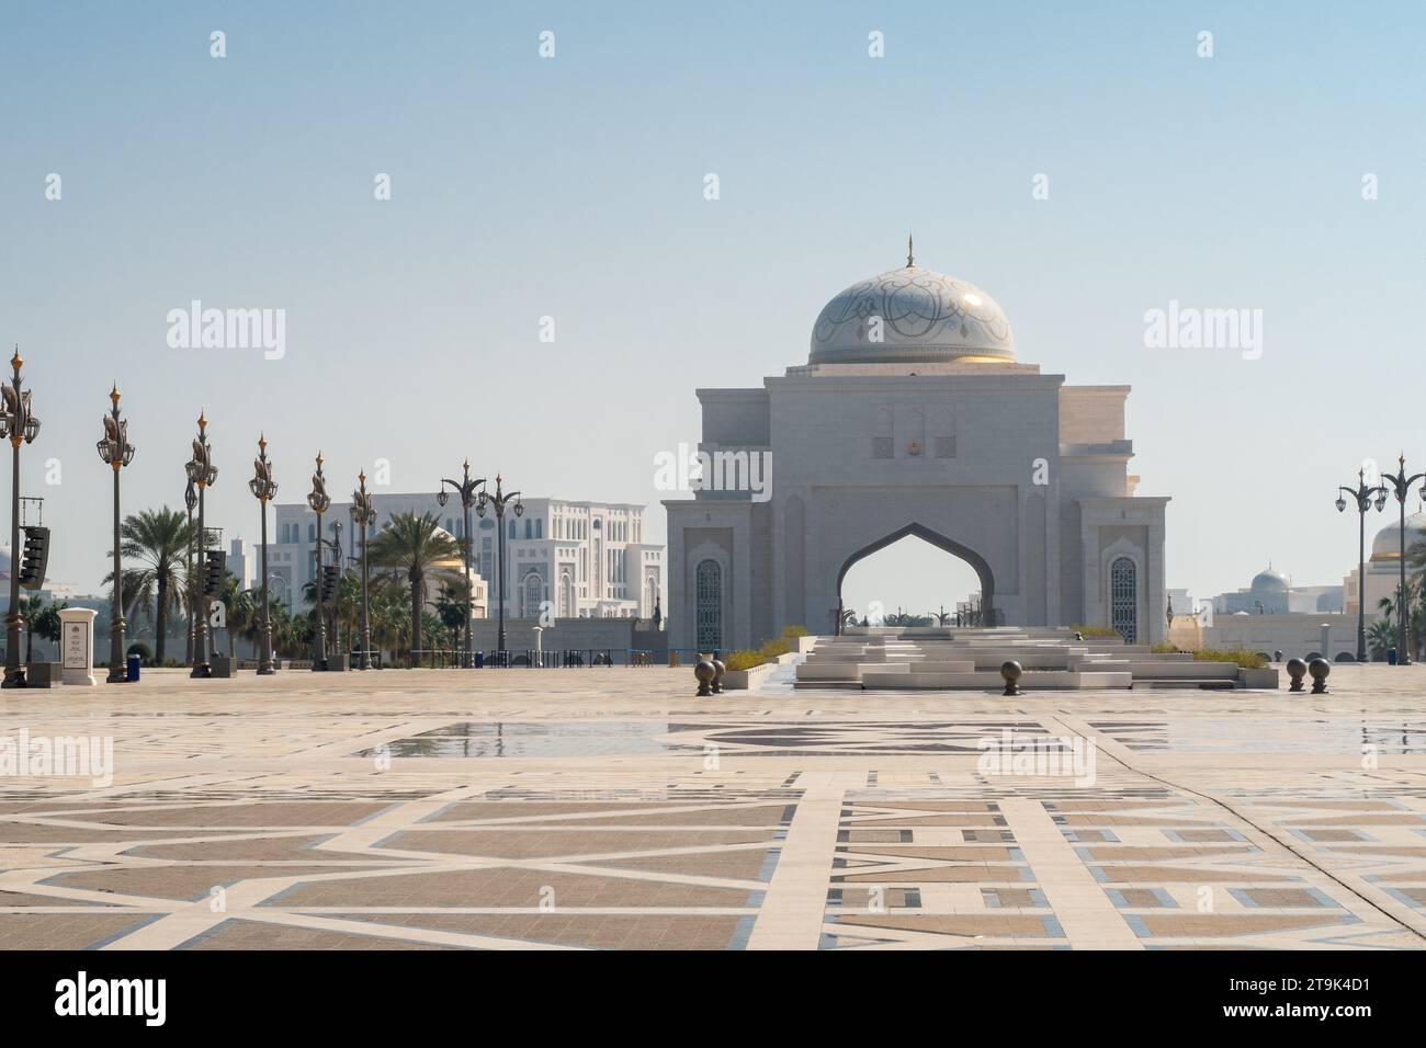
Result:
<svg viewBox="0 0 1426 1048"><path fill-rule="evenodd" d="M114 774L0 779L0 948L1426 947L1426 667L1330 684L6 692L0 736L113 737Z"/></svg>

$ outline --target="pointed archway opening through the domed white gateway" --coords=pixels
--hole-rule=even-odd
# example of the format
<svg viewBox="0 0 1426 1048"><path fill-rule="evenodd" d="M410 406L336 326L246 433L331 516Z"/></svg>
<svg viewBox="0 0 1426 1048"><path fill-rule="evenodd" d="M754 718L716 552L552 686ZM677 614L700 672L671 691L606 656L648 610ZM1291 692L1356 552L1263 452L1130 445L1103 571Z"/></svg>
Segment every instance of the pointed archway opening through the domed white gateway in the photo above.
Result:
<svg viewBox="0 0 1426 1048"><path fill-rule="evenodd" d="M923 525L907 525L847 558L837 600L850 622L998 625L995 579L973 549Z"/></svg>

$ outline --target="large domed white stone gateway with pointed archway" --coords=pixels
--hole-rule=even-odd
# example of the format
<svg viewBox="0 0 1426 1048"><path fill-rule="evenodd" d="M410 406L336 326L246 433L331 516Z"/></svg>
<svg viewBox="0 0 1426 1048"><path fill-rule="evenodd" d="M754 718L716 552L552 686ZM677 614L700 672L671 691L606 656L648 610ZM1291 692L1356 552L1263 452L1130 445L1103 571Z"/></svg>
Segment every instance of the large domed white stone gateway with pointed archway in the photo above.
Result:
<svg viewBox="0 0 1426 1048"><path fill-rule="evenodd" d="M851 565L908 535L968 562L998 623L1162 640L1168 499L1135 495L1128 394L1018 362L990 295L910 255L851 285L806 364L697 391L700 452L757 456L771 483L663 503L670 644L827 633Z"/></svg>

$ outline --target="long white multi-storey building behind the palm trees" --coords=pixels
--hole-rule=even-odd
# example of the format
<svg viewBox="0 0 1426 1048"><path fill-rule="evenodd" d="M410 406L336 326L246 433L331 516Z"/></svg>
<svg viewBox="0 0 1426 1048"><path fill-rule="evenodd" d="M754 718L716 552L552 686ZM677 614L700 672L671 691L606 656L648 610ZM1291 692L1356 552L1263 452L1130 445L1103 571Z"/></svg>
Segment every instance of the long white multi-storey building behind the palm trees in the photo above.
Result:
<svg viewBox="0 0 1426 1048"><path fill-rule="evenodd" d="M523 515L515 516L512 508L505 513L506 617L535 617L542 610L559 619L646 619L653 615L663 587L663 546L643 540L643 506L550 498L522 499L522 503ZM355 565L359 542L349 506L332 502L322 516L324 538L331 540L332 525L341 523L342 556L348 565ZM442 506L434 492L376 492L372 506L376 510L372 535L398 513L432 513L453 538L465 535L463 510L456 498ZM302 502L275 505L274 516L275 540L268 545L270 589L274 599L289 607L301 606L304 586L317 575L317 515ZM493 616L499 607L499 595L493 592L499 579L495 513L488 510L481 518L472 509L471 533L475 617ZM234 545L230 559L237 555ZM248 548L245 559L257 565L258 552ZM462 565L456 559L445 567L459 572ZM257 585L257 567L250 573L250 585ZM545 602L549 602L548 609Z"/></svg>

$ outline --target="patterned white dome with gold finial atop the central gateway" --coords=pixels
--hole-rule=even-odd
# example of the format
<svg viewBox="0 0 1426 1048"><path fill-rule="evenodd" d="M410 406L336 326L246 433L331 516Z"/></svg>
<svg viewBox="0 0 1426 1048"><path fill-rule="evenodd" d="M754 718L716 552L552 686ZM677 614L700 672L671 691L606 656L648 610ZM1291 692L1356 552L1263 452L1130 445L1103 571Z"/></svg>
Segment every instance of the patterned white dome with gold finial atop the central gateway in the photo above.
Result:
<svg viewBox="0 0 1426 1048"><path fill-rule="evenodd" d="M994 298L910 264L853 284L811 328L809 364L1014 361L1015 338Z"/></svg>

